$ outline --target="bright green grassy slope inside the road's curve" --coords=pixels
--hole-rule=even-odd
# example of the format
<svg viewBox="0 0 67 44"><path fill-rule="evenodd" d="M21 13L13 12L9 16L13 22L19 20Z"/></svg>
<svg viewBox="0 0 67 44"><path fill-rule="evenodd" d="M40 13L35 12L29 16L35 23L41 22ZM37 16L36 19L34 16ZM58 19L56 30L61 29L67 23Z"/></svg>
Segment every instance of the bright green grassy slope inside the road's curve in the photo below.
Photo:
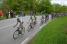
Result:
<svg viewBox="0 0 67 44"><path fill-rule="evenodd" d="M67 44L67 17L50 22L28 44Z"/></svg>

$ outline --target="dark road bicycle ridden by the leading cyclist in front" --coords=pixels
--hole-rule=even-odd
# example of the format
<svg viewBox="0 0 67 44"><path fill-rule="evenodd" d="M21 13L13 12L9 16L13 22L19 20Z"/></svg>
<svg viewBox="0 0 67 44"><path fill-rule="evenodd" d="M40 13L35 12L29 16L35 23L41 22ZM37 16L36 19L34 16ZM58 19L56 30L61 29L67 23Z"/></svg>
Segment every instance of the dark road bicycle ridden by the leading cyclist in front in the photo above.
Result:
<svg viewBox="0 0 67 44"><path fill-rule="evenodd" d="M13 33L13 39L16 40L19 36L24 35L25 27L17 27L17 30Z"/></svg>

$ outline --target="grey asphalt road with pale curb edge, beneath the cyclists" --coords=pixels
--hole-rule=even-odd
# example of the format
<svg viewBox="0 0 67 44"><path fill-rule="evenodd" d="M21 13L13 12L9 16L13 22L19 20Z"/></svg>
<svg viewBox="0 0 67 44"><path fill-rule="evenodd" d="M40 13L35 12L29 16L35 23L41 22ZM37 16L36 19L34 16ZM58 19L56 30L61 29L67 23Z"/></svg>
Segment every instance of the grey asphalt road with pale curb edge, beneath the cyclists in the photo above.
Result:
<svg viewBox="0 0 67 44"><path fill-rule="evenodd" d="M33 38L35 34L40 31L41 16L37 16L37 24L30 32L27 31L29 26L29 18L30 16L23 17L25 34L23 36L19 36L19 38L16 40L13 39L13 33L17 29L17 27L13 28L13 26L16 24L16 18L0 21L0 44L25 44L31 38ZM49 21L50 20L51 17ZM44 23L44 25L47 23Z"/></svg>

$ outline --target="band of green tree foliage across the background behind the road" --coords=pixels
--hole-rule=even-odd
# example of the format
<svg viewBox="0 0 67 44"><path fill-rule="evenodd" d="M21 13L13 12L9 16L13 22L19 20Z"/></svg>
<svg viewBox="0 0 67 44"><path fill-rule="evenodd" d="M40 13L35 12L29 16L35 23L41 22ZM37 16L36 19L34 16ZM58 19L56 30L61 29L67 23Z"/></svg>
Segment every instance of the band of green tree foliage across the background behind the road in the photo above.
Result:
<svg viewBox="0 0 67 44"><path fill-rule="evenodd" d="M51 5L50 0L4 0L3 8L5 11L35 11L45 13L58 13L58 12L67 12L66 6L61 6L58 4Z"/></svg>

